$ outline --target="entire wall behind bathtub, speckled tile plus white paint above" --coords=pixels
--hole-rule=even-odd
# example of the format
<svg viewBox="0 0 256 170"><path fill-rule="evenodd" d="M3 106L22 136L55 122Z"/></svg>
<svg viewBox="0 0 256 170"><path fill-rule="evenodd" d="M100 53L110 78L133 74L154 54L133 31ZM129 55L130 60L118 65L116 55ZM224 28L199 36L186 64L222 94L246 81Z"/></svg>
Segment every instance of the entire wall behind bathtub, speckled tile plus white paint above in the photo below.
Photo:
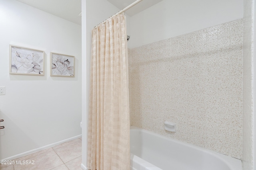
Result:
<svg viewBox="0 0 256 170"><path fill-rule="evenodd" d="M204 2L196 0L193 3L186 0L179 2L163 0L132 16L130 19L131 39L128 42L128 44L132 44L130 46L132 54L131 105L135 103L132 107L137 108L131 109L134 111L139 109L136 113L133 111L131 113L131 119L134 119L132 124L135 125L135 119L141 122L136 126L142 127L142 125L151 123L151 129L150 127L145 128L152 131L155 129L158 133L165 134L166 132L163 130L164 120L176 121L178 128L182 129L180 129L180 133L169 134L170 137L241 159L242 50L240 49L236 53L235 50L237 49L232 51L232 47L238 44L241 44L242 47L242 18L242 0L232 2L228 0ZM237 26L231 26L232 24L228 23L230 21L238 21L239 23L235 24ZM236 29L239 29L238 37L232 33ZM221 51L225 49L222 45L225 48L228 46L230 51ZM231 55L236 54L238 54L236 56L238 58L232 59ZM152 62L156 65L152 66ZM137 66L139 68L136 68ZM152 69L155 69L154 72L159 71L159 74L153 74ZM137 77L132 77L134 74ZM150 75L150 81L145 80L148 75ZM193 79L194 77L196 79ZM163 82L163 84L159 84L159 82ZM156 85L156 83L158 84ZM229 90L230 86L234 86L233 90L238 91L238 96L232 94ZM142 90L142 92L134 94L136 90ZM156 96L148 96L148 94ZM162 95L165 97L161 98ZM225 95L228 96L225 97ZM148 100L149 98L151 101ZM146 102L151 103L146 104ZM152 104L152 102L154 103ZM190 104L190 102L192 103ZM194 104L195 102L196 104ZM208 106L208 103L211 102L214 102L214 106ZM232 102L236 103L236 106ZM165 108L167 105L168 108ZM226 105L228 108L224 109ZM231 107L240 109L231 109ZM143 114L138 113L144 109L146 113L145 111ZM214 111L213 114L210 111ZM193 112L196 115L192 114ZM149 123L149 119L146 117L150 116L146 116L147 113L150 113L150 119L157 119L158 121ZM134 114L140 117L133 118ZM206 119L208 122L213 122L210 125L218 125L220 122L221 125L219 127L205 127L204 121ZM227 135L226 139L224 139L223 133L219 133L217 130L225 127L230 127L228 131L225 131L227 133L225 134ZM233 127L236 128L233 129ZM210 131L210 129L216 131ZM187 134L188 137L185 137ZM220 137L221 135L222 137ZM238 135L238 140L236 140L235 135ZM198 140L197 138L200 136L202 138ZM221 143L217 138L227 142L232 137L235 137L235 140L232 140L230 145L209 143L210 140L214 143ZM221 146L222 148L220 148Z"/></svg>

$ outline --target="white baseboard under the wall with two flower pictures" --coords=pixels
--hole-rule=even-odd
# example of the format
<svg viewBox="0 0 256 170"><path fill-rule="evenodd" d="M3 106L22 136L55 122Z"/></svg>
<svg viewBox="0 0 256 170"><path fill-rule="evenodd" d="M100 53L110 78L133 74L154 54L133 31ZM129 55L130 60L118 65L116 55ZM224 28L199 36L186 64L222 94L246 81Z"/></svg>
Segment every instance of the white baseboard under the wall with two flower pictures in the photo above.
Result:
<svg viewBox="0 0 256 170"><path fill-rule="evenodd" d="M10 157L4 158L4 159L2 159L2 160L14 160L14 159L20 158L20 157L22 157L22 156L25 156L25 155L28 155L28 154L32 154L32 153L34 153L34 152L38 152L38 151L40 151L40 150L44 150L44 149L48 149L48 148L54 147L54 146L56 146L56 145L60 145L60 144L62 144L62 143L64 143L64 142L72 141L72 140L77 139L77 138L80 138L80 137L82 137L82 135L77 135L77 136L74 136L74 137L65 139L65 140L63 140L63 141L59 141L59 142L56 142L56 143L52 143L52 144L50 144L50 145L46 145L46 146L44 146L44 147L40 147L40 148L33 149L33 150L29 150L29 151L26 151L26 152L23 152L23 153L20 153L20 154L16 154L16 155L14 155L14 156L10 156Z"/></svg>

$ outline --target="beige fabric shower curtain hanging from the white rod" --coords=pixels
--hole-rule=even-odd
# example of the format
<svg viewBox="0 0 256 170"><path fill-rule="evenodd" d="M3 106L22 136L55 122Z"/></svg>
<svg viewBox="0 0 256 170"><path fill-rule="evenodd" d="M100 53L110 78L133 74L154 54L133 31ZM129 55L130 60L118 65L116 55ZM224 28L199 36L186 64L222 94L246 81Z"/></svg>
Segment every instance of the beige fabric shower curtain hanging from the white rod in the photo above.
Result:
<svg viewBox="0 0 256 170"><path fill-rule="evenodd" d="M127 35L124 14L92 30L87 166L130 169Z"/></svg>

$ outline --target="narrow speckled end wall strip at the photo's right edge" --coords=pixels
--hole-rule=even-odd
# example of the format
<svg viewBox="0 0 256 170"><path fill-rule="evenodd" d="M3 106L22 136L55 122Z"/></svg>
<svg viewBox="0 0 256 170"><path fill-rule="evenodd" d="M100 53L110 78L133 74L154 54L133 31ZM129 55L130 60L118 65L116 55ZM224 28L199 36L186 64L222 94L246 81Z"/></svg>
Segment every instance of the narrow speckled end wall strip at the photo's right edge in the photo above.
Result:
<svg viewBox="0 0 256 170"><path fill-rule="evenodd" d="M244 0L244 43L243 43L243 166L244 170L256 168L253 149L255 150L253 133L253 26L254 26L254 1ZM255 64L255 63L254 63ZM253 129L254 128L254 129Z"/></svg>

